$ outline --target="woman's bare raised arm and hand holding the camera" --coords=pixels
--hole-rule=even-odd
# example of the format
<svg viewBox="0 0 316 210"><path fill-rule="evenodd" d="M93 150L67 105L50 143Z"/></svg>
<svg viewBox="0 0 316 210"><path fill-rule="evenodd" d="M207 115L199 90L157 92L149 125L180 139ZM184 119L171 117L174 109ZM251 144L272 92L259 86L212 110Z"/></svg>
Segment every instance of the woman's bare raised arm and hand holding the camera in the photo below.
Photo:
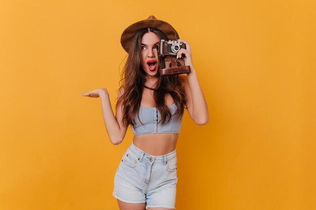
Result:
<svg viewBox="0 0 316 210"><path fill-rule="evenodd" d="M190 117L196 124L203 125L208 122L206 100L197 80L195 68L192 64L190 44L185 40L181 41L186 44L187 49L180 49L178 55L181 57L182 54L185 54L185 64L190 66L190 73L188 76L180 76L181 84L183 85L186 93L187 110Z"/></svg>

